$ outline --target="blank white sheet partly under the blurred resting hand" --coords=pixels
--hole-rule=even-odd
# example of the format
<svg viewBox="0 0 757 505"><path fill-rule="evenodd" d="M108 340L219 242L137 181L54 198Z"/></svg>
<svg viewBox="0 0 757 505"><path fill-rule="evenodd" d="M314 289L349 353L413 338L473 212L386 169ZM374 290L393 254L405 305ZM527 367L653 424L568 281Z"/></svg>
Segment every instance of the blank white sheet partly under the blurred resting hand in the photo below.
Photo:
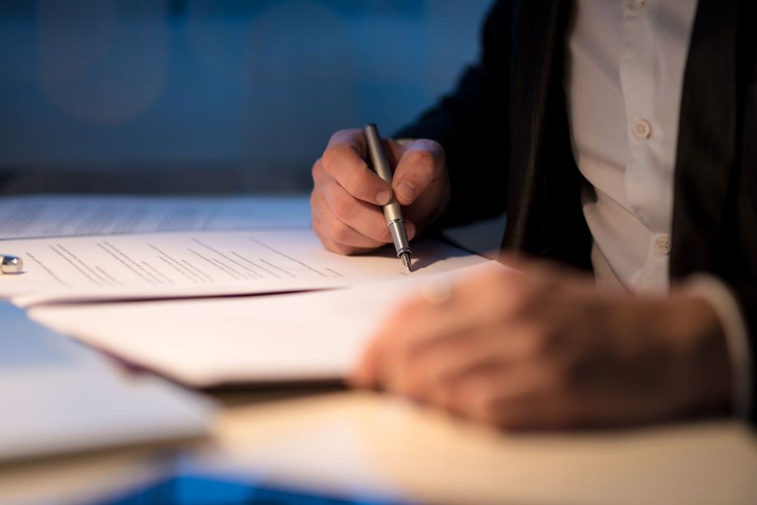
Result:
<svg viewBox="0 0 757 505"><path fill-rule="evenodd" d="M31 318L191 386L344 377L400 300L439 276L243 298L48 305Z"/></svg>

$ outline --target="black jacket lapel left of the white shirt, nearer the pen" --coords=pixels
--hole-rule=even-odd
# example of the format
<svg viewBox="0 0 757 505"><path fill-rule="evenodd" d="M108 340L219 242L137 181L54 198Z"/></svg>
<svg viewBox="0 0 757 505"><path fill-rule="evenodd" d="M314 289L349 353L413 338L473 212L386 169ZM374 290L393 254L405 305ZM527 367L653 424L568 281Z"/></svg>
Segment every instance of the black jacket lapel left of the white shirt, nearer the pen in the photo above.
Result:
<svg viewBox="0 0 757 505"><path fill-rule="evenodd" d="M587 265L562 76L572 0L515 2L510 172L503 249ZM572 234L569 234L572 231ZM580 244L579 244L580 242Z"/></svg>

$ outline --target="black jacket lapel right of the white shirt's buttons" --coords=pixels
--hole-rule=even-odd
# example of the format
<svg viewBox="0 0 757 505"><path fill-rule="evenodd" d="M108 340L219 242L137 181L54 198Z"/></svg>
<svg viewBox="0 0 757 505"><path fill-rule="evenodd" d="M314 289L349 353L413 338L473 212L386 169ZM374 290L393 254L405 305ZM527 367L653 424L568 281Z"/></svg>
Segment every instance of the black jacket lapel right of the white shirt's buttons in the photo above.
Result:
<svg viewBox="0 0 757 505"><path fill-rule="evenodd" d="M752 1L752 0L749 0ZM699 0L681 95L671 277L710 269L737 158L736 0Z"/></svg>

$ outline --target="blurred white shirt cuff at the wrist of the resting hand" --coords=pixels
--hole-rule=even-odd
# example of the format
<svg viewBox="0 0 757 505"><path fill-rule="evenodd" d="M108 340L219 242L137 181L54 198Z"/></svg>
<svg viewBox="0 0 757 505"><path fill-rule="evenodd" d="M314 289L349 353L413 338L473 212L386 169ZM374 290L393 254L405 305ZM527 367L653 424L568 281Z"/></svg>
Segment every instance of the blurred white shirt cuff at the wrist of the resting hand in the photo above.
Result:
<svg viewBox="0 0 757 505"><path fill-rule="evenodd" d="M693 274L687 277L683 288L687 293L706 299L718 314L727 340L728 356L731 359L734 412L738 417L749 418L753 370L746 323L739 302L725 283L709 274Z"/></svg>

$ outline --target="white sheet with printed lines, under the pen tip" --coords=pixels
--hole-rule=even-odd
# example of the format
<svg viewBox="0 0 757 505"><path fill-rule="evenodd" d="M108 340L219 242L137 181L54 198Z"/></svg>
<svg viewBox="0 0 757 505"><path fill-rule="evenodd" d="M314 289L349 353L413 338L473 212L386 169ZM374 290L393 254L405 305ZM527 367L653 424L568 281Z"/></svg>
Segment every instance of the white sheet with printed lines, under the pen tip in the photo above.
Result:
<svg viewBox="0 0 757 505"><path fill-rule="evenodd" d="M0 278L0 297L51 301L281 293L407 276L394 249L328 252L310 230L198 231L6 240L23 274ZM413 243L413 276L485 260L433 240Z"/></svg>

